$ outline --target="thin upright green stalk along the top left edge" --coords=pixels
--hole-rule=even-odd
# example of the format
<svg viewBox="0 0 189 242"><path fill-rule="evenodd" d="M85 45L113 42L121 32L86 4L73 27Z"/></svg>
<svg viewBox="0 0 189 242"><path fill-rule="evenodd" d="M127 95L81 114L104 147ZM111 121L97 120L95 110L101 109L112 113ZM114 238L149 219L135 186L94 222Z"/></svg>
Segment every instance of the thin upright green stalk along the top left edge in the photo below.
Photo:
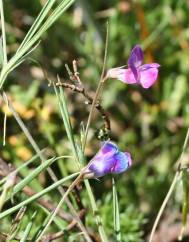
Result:
<svg viewBox="0 0 189 242"><path fill-rule="evenodd" d="M1 15L2 40L3 40L3 66L5 66L7 64L7 47L6 47L7 44L6 44L3 0L0 0L0 15Z"/></svg>

